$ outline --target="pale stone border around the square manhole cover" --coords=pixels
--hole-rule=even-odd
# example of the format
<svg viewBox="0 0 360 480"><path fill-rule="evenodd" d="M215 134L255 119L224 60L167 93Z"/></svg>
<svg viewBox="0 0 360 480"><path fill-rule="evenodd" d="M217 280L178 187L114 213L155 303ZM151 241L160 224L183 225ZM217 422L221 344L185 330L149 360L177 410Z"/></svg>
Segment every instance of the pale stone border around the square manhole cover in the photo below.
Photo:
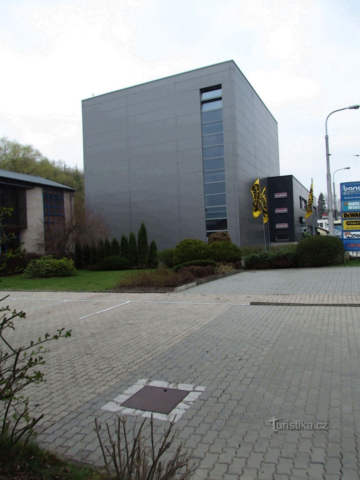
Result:
<svg viewBox="0 0 360 480"><path fill-rule="evenodd" d="M144 388L145 385L188 390L189 394L176 406L176 408L173 408L168 415L165 413L156 413L146 410L136 410L135 408L121 407L121 403L131 398L135 393ZM120 415L132 415L147 418L151 418L151 416L153 416L153 418L157 420L173 421L176 423L186 412L186 410L192 406L194 401L199 398L205 389L206 387L202 385L176 384L163 382L161 380L149 380L148 378L141 378L131 387L126 389L124 393L116 396L111 402L108 402L106 405L101 407L101 410L106 410L108 412L119 412Z"/></svg>

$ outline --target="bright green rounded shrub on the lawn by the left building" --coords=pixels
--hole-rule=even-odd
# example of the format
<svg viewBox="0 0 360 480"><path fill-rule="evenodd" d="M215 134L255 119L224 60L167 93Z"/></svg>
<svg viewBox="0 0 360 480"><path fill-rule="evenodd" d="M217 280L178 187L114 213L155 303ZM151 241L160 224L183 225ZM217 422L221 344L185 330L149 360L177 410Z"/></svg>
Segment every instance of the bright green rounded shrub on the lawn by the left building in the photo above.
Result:
<svg viewBox="0 0 360 480"><path fill-rule="evenodd" d="M30 278L49 276L72 276L76 274L74 262L68 258L57 260L52 255L46 255L31 260L25 268L24 275Z"/></svg>

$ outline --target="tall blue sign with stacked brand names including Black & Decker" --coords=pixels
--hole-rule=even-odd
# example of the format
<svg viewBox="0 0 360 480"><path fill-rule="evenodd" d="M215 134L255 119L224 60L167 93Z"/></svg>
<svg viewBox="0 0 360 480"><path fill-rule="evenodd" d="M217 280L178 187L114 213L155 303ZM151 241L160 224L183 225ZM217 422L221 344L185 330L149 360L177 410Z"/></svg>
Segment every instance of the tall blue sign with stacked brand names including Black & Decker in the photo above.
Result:
<svg viewBox="0 0 360 480"><path fill-rule="evenodd" d="M360 181L340 183L344 249L360 251Z"/></svg>

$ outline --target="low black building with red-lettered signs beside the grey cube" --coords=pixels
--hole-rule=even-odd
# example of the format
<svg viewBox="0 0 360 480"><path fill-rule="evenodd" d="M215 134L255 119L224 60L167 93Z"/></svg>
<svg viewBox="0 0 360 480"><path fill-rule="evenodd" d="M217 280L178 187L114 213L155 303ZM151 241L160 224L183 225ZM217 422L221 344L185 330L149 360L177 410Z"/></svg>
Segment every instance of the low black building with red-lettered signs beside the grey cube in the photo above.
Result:
<svg viewBox="0 0 360 480"><path fill-rule="evenodd" d="M316 235L315 207L305 220L309 190L292 175L266 180L271 243L297 242L305 233Z"/></svg>

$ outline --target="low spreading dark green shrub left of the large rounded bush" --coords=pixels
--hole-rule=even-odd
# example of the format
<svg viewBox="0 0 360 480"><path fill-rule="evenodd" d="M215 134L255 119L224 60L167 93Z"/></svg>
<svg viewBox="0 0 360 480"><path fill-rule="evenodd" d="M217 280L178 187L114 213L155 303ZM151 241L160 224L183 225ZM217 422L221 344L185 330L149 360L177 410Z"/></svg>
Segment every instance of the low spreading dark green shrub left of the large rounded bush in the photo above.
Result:
<svg viewBox="0 0 360 480"><path fill-rule="evenodd" d="M253 253L245 257L247 270L267 270L273 268L296 268L297 254L294 250Z"/></svg>

